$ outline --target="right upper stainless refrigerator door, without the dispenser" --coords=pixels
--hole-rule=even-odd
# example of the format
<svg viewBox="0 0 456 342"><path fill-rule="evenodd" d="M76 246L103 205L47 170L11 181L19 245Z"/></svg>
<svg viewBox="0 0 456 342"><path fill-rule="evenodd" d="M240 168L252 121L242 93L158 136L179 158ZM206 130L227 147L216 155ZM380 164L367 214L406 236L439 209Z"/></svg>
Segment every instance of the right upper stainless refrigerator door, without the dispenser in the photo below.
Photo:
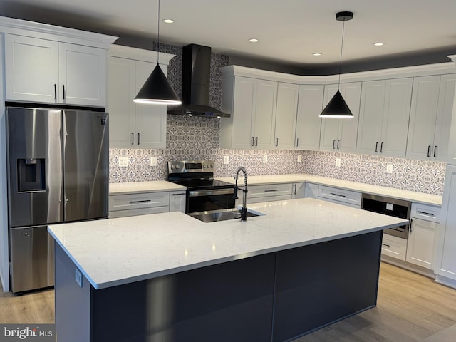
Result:
<svg viewBox="0 0 456 342"><path fill-rule="evenodd" d="M66 222L108 217L108 114L63 112Z"/></svg>

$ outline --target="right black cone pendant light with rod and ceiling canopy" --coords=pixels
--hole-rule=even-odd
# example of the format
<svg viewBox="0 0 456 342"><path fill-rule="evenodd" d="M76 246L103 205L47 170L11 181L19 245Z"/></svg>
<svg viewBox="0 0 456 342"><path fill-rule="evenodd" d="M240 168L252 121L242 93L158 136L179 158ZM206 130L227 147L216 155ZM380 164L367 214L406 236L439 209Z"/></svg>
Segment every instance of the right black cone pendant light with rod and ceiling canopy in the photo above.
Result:
<svg viewBox="0 0 456 342"><path fill-rule="evenodd" d="M320 114L320 118L353 118L350 108L347 103L343 100L342 94L339 91L341 86L341 67L342 67L342 49L343 49L343 31L345 30L345 22L353 19L353 12L338 12L336 14L336 20L343 21L342 26L342 43L341 43L341 61L339 63L339 81L337 85L336 94L331 98L331 101L326 105L323 112Z"/></svg>

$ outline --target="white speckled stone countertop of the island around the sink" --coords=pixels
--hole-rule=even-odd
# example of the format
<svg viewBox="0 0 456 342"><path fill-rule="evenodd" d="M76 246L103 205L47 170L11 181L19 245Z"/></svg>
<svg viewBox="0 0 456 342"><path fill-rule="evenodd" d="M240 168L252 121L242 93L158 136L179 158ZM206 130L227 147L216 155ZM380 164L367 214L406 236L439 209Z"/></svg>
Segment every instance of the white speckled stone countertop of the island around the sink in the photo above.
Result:
<svg viewBox="0 0 456 342"><path fill-rule="evenodd" d="M167 212L55 224L48 231L90 284L104 289L407 222L312 198L249 209L264 216L204 223Z"/></svg>

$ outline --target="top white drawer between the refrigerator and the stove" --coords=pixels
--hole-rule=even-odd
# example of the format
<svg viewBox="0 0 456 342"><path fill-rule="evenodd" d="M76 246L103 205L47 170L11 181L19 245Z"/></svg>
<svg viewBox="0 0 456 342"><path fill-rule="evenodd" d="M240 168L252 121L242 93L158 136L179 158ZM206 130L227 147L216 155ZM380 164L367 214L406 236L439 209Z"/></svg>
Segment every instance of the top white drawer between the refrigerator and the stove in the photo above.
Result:
<svg viewBox="0 0 456 342"><path fill-rule="evenodd" d="M110 195L109 211L170 206L170 192L145 192L129 195Z"/></svg>

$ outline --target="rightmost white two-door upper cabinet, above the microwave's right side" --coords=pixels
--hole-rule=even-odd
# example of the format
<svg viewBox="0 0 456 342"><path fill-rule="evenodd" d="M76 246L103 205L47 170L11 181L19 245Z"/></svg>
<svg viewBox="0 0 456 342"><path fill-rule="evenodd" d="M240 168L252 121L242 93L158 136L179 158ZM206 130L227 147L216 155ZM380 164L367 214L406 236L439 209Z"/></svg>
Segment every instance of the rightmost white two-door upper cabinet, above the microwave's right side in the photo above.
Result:
<svg viewBox="0 0 456 342"><path fill-rule="evenodd" d="M456 75L413 79L407 157L446 160Z"/></svg>

